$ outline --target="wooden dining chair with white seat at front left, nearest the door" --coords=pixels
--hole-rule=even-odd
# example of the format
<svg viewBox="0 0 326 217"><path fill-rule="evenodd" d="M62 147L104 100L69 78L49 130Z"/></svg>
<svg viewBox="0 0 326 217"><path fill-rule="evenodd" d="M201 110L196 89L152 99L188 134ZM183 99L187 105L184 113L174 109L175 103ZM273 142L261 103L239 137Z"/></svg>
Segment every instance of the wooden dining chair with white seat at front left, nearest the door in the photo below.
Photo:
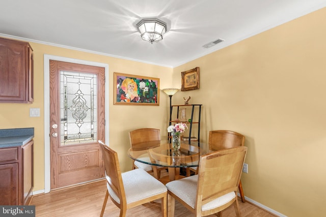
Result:
<svg viewBox="0 0 326 217"><path fill-rule="evenodd" d="M167 188L156 178L142 169L121 173L116 151L102 141L100 149L104 162L107 190L100 216L103 216L107 198L120 208L120 217L129 208L161 199L162 216L167 216Z"/></svg>

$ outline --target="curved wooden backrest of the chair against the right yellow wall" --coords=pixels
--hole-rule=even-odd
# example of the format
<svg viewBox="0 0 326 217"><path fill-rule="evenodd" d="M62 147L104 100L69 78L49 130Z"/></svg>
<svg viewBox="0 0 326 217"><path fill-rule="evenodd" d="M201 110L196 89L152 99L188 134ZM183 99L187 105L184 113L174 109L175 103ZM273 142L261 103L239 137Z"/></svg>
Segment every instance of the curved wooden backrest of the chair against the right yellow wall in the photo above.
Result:
<svg viewBox="0 0 326 217"><path fill-rule="evenodd" d="M225 148L233 148L243 146L244 136L237 132L216 130L210 131L208 137L208 145L210 150L221 150Z"/></svg>

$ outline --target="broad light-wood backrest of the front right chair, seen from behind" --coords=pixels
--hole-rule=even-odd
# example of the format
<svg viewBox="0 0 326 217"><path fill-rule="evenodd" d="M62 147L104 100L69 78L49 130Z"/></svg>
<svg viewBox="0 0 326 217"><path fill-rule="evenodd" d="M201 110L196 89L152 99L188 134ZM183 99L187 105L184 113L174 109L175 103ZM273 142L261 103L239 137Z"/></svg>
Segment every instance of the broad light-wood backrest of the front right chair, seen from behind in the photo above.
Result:
<svg viewBox="0 0 326 217"><path fill-rule="evenodd" d="M197 210L218 197L232 191L237 192L246 153L247 147L241 146L214 151L201 157L196 197Z"/></svg>

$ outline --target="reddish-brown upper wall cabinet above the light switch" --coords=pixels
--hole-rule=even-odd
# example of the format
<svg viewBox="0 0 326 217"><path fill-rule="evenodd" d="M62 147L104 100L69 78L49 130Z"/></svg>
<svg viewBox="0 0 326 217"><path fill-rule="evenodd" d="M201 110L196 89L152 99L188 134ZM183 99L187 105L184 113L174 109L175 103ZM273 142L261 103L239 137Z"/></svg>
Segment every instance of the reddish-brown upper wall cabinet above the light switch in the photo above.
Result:
<svg viewBox="0 0 326 217"><path fill-rule="evenodd" d="M0 38L0 103L33 102L33 49L28 42Z"/></svg>

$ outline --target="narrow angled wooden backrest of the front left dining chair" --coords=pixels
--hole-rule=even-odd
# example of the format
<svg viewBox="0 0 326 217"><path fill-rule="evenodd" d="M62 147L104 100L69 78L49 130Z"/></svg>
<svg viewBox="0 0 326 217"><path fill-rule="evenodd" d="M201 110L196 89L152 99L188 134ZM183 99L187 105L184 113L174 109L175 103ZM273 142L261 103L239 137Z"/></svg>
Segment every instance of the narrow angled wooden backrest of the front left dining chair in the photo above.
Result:
<svg viewBox="0 0 326 217"><path fill-rule="evenodd" d="M121 170L118 160L118 154L116 151L105 145L102 141L100 143L100 149L102 153L102 159L104 162L106 181L111 190L117 195L120 200L120 205L126 204L126 195L123 188ZM110 194L111 197L111 194ZM114 200L113 200L114 201ZM120 207L119 205L119 207Z"/></svg>

